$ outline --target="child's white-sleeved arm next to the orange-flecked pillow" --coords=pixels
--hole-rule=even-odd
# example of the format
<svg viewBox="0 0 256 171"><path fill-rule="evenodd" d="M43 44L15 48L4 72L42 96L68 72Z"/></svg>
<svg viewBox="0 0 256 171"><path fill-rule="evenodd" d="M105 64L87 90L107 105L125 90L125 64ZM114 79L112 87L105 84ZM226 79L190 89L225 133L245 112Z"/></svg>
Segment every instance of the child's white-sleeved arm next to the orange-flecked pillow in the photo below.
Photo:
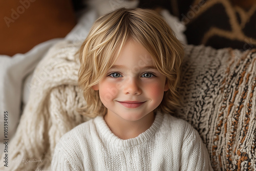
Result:
<svg viewBox="0 0 256 171"><path fill-rule="evenodd" d="M205 144L190 125L182 145L180 170L213 170Z"/></svg>

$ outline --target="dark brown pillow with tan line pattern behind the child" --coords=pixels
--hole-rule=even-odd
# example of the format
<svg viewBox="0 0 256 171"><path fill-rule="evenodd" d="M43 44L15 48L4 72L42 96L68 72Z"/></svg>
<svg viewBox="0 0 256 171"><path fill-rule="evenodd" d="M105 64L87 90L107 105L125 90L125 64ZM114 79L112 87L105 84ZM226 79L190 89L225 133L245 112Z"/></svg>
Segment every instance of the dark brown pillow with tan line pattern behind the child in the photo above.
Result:
<svg viewBox="0 0 256 171"><path fill-rule="evenodd" d="M143 8L166 8L186 25L188 44L256 48L255 0L140 0Z"/></svg>

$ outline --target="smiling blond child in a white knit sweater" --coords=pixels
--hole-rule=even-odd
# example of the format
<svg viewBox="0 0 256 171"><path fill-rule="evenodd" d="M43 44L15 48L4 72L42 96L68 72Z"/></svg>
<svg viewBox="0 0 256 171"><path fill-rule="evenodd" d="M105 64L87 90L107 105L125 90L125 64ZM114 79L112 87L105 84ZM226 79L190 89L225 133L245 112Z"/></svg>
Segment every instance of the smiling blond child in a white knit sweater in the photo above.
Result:
<svg viewBox="0 0 256 171"><path fill-rule="evenodd" d="M152 10L97 19L80 49L79 86L95 117L61 137L52 170L212 170L207 149L175 118L183 48Z"/></svg>

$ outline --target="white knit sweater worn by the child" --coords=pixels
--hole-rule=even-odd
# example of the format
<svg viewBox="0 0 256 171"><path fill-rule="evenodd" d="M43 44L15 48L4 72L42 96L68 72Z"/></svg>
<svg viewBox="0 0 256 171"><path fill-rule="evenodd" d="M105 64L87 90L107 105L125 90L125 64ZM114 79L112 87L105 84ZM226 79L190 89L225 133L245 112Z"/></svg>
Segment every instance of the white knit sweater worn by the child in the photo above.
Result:
<svg viewBox="0 0 256 171"><path fill-rule="evenodd" d="M184 120L157 114L136 138L115 136L103 117L76 126L55 147L52 170L212 170L199 134Z"/></svg>

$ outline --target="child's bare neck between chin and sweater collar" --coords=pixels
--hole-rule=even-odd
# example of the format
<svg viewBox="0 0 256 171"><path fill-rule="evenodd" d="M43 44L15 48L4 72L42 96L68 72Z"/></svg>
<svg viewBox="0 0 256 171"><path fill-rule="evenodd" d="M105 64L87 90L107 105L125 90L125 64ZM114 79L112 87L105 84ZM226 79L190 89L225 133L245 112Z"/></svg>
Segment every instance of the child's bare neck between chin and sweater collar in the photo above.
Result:
<svg viewBox="0 0 256 171"><path fill-rule="evenodd" d="M155 120L154 112L136 121L127 121L118 115L105 114L104 120L113 134L120 139L135 138L145 132Z"/></svg>

